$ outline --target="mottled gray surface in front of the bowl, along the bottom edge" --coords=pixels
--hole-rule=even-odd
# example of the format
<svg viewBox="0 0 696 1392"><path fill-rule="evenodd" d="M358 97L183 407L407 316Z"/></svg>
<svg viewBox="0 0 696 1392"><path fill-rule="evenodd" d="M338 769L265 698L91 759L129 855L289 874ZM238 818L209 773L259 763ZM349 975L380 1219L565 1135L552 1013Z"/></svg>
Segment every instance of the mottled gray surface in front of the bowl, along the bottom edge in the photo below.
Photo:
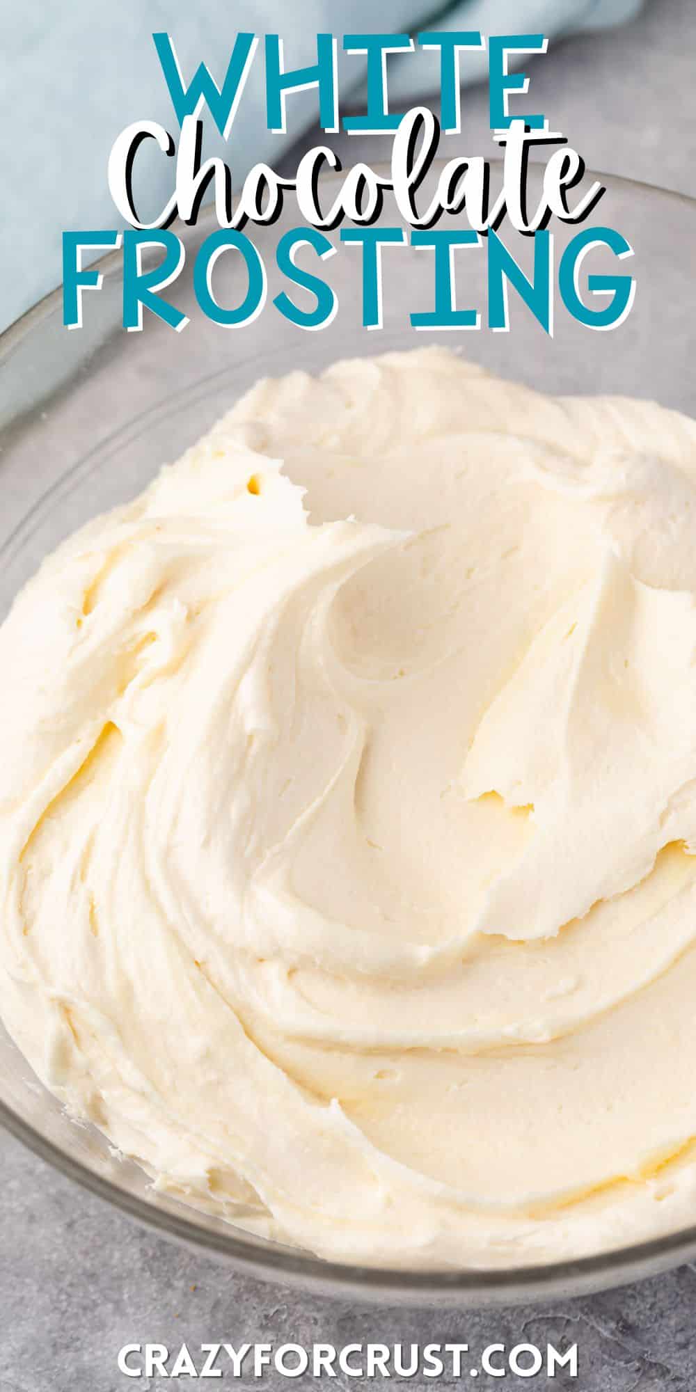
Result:
<svg viewBox="0 0 696 1392"><path fill-rule="evenodd" d="M75 1189L3 1143L3 1254L0 1257L0 1392L113 1392L173 1384L125 1378L124 1343L354 1340L459 1342L472 1366L493 1342L562 1349L579 1345L579 1377L558 1374L558 1392L692 1392L696 1385L696 1270L679 1271L580 1300L505 1310L418 1310L317 1299L281 1285L241 1278L227 1267L145 1232L99 1199ZM202 1386L224 1386L207 1382ZM479 1375L479 1392L546 1385ZM191 1385L188 1382L177 1384ZM239 1384L237 1384L239 1385ZM253 1386L252 1381L242 1382ZM270 1373L259 1386L290 1382ZM337 1386L345 1392L355 1382ZM374 1385L374 1384L373 1384ZM454 1386L452 1381L408 1384ZM462 1379L461 1385L466 1385Z"/></svg>

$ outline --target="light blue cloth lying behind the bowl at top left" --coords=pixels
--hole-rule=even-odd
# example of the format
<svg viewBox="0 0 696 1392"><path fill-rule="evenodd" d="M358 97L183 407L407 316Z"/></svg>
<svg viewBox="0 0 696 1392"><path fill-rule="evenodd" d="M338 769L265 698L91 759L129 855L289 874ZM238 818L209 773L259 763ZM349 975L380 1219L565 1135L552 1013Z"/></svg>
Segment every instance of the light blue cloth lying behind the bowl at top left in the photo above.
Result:
<svg viewBox="0 0 696 1392"><path fill-rule="evenodd" d="M316 61L319 31L362 33L426 28L483 33L543 32L550 39L629 19L643 0L0 0L0 327L61 280L64 228L118 226L109 193L109 150L124 125L149 117L177 136L177 124L152 42L167 31L188 81L203 58L220 84L238 31L284 36L285 65ZM3 15L4 11L4 15ZM341 102L361 95L365 60L340 53ZM462 54L462 81L486 77L484 54ZM408 107L438 86L438 56L390 58L391 109ZM316 90L288 99L288 134L266 129L263 58L256 53L227 148L207 120L205 155L223 153L235 185L259 159L277 164L316 121ZM326 138L330 142L330 136ZM171 187L171 161L138 155L136 189L148 188L155 216Z"/></svg>

